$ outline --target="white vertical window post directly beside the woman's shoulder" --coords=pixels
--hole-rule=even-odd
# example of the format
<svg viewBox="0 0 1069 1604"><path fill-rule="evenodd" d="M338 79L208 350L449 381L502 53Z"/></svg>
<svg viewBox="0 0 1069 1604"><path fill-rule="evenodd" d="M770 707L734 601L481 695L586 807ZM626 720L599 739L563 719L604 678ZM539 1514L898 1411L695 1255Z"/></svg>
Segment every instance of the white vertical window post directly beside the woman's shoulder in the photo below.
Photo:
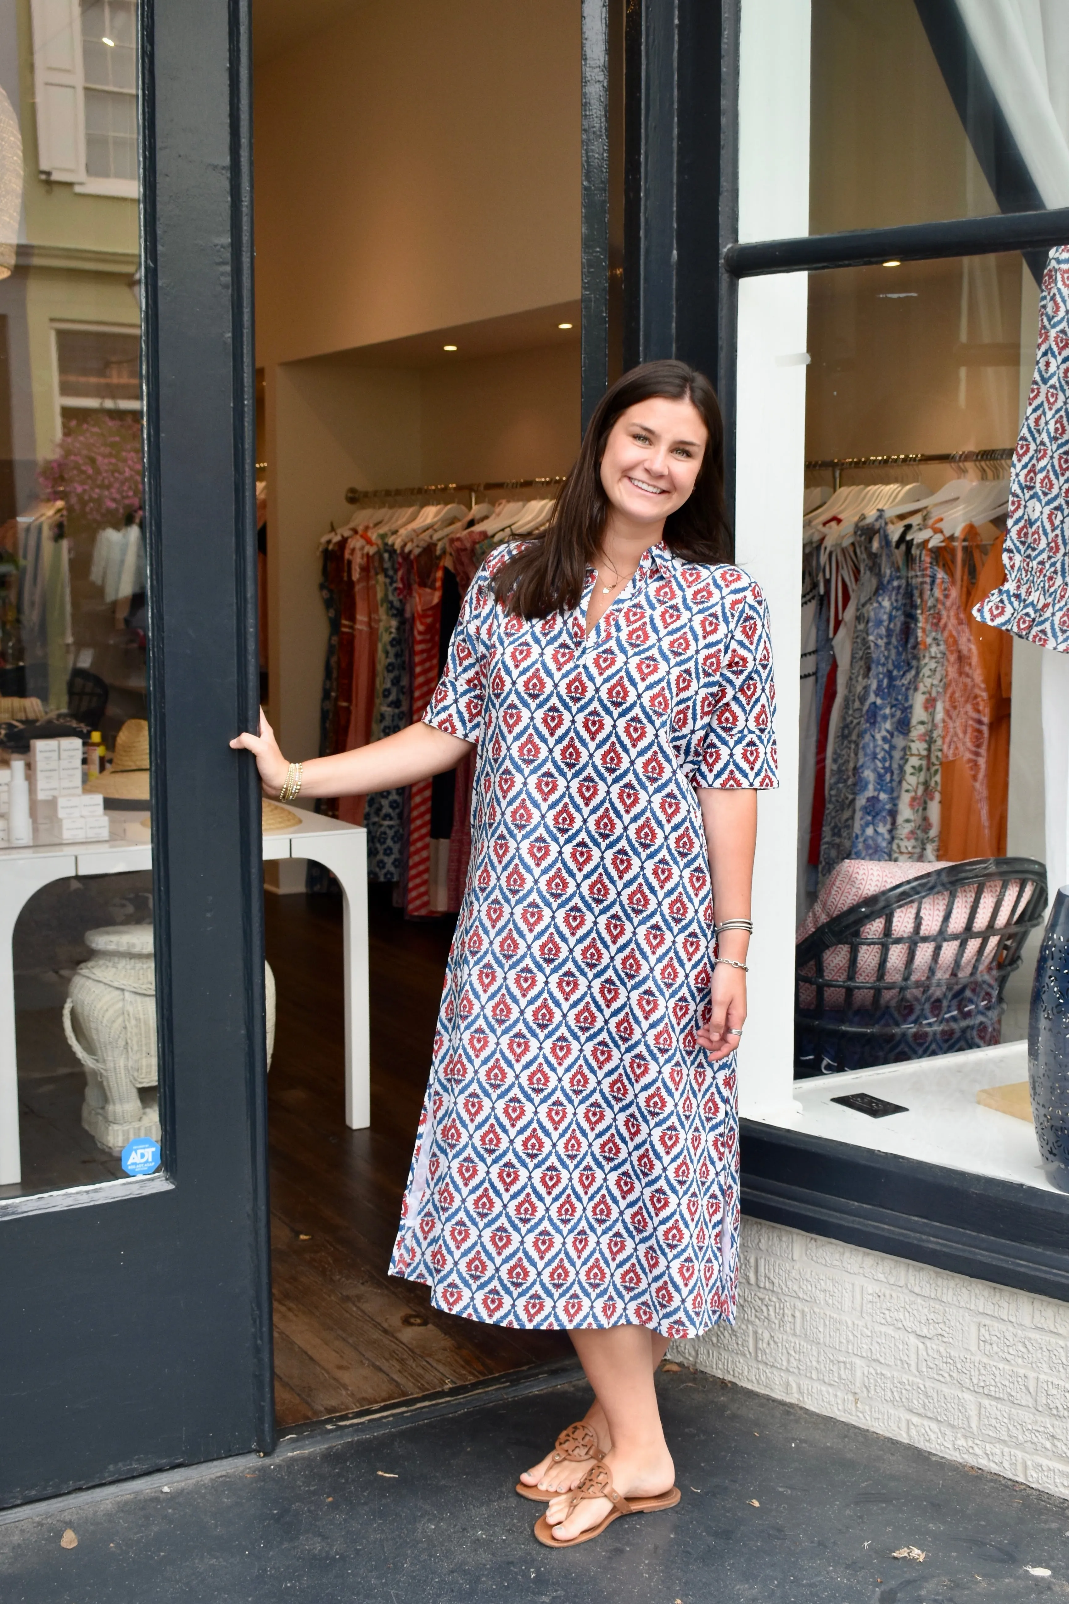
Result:
<svg viewBox="0 0 1069 1604"><path fill-rule="evenodd" d="M742 0L739 239L809 233L809 0ZM798 656L805 486L806 273L739 281L736 557L768 597L779 789L761 796L740 1113L790 1121L795 1078Z"/></svg>

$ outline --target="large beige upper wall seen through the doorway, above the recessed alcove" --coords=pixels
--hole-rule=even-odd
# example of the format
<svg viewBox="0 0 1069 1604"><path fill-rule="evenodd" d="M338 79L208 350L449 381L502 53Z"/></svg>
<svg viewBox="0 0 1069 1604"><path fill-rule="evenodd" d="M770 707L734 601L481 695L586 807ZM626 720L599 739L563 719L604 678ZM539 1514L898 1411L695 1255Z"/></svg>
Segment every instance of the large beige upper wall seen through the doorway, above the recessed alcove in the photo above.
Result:
<svg viewBox="0 0 1069 1604"><path fill-rule="evenodd" d="M579 295L579 0L356 0L255 90L264 366Z"/></svg>

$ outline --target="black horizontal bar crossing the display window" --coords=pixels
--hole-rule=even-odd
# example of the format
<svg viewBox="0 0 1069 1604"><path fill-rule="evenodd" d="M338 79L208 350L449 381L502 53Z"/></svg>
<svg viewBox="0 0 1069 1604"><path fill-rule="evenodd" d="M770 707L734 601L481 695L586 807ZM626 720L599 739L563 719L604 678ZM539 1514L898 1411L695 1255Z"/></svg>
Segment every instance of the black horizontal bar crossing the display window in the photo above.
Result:
<svg viewBox="0 0 1069 1604"><path fill-rule="evenodd" d="M880 261L930 261L936 257L984 257L1000 250L1050 250L1069 242L1069 207L965 217L947 223L907 223L803 239L761 239L728 245L724 271L737 279L768 273L817 273Z"/></svg>

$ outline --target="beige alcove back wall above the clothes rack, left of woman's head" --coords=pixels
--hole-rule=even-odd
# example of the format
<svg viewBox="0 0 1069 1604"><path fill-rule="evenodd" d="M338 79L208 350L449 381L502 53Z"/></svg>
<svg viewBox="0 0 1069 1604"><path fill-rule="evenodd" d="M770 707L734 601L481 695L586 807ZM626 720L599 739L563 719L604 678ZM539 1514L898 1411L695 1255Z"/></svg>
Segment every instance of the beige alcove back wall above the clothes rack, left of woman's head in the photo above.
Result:
<svg viewBox="0 0 1069 1604"><path fill-rule="evenodd" d="M579 342L426 369L423 476L516 480L567 473L579 451Z"/></svg>

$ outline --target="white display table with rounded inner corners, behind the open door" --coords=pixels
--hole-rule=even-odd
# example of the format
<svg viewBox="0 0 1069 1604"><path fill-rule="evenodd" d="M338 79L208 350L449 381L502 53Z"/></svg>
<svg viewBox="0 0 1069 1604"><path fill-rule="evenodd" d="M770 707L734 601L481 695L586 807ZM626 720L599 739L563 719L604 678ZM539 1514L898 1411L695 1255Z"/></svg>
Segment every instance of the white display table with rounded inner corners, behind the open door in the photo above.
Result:
<svg viewBox="0 0 1069 1604"><path fill-rule="evenodd" d="M114 815L112 815L114 816ZM264 861L313 858L337 876L345 903L345 1123L364 1129L370 1116L370 1036L367 985L367 832L319 813L263 837ZM72 874L125 874L152 868L152 847L128 840L91 840L48 847L0 849L0 1185L22 1179L19 1158L19 1083L14 1044L14 922L51 881Z"/></svg>

